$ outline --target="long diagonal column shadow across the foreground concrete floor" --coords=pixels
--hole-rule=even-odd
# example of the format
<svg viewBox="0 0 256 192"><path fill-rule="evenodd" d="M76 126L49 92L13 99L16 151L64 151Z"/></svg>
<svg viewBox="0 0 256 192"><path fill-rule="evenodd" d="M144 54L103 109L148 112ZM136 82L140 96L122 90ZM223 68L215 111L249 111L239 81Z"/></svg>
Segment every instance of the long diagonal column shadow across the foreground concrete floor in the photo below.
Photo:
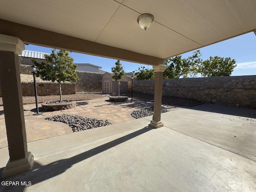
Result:
<svg viewBox="0 0 256 192"><path fill-rule="evenodd" d="M48 180L50 178L53 178L55 176L62 174L63 172L65 172L67 169L71 168L72 165L74 165L76 163L79 163L79 162L86 160L92 156L95 156L101 152L104 152L105 150L108 150L114 146L117 146L123 142L126 142L126 141L128 141L136 136L139 136L145 132L148 132L152 129L153 129L153 127L148 125L140 130L137 130L128 135L122 136L122 137L120 137L116 140L110 141L108 143L102 144L98 147L95 147L91 150L80 153L71 158L58 160L58 161L52 162L47 165L41 165L35 161L35 164L34 164L32 170L29 170L28 172L24 172L22 174L18 174L17 176L12 176L10 178L2 179L1 182L2 181L18 181L20 183L21 181L22 182L30 181L31 185L37 184L39 182ZM4 170L4 168L0 168L1 174L2 174L3 170ZM21 192L21 191L24 191L25 188L26 188L26 186L2 186L2 185L0 185L0 192L8 192L8 191Z"/></svg>

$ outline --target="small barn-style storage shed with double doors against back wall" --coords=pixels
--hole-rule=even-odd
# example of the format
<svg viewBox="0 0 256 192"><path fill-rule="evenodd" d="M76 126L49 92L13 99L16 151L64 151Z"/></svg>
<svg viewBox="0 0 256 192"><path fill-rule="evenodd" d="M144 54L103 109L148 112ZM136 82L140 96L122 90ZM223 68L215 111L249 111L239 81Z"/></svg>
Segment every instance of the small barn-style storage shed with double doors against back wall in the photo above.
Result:
<svg viewBox="0 0 256 192"><path fill-rule="evenodd" d="M118 94L118 81L114 80L112 76L114 73L104 73L102 77L102 93ZM128 93L128 81L131 78L124 75L120 79L120 94Z"/></svg>

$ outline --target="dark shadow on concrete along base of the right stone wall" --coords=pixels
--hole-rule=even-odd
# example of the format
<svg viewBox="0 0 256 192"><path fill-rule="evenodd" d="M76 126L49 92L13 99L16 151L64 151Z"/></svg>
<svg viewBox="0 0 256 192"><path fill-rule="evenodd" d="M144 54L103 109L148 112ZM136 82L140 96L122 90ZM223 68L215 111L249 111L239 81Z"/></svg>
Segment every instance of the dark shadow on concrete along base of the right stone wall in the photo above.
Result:
<svg viewBox="0 0 256 192"><path fill-rule="evenodd" d="M249 109L249 108L223 106L223 105L216 105L216 104L210 104L210 103L193 106L193 107L186 107L186 106L178 106L178 107L206 111L206 112L241 116L241 117L247 117L247 118L256 118L256 109Z"/></svg>

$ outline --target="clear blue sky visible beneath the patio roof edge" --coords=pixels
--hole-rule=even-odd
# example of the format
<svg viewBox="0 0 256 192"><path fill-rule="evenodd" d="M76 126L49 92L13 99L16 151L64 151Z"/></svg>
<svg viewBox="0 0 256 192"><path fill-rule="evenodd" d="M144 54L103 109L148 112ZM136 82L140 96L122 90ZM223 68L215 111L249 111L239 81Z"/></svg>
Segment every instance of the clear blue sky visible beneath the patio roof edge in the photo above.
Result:
<svg viewBox="0 0 256 192"><path fill-rule="evenodd" d="M51 53L52 48L25 45L26 50L39 51ZM195 51L195 50L194 50ZM182 54L182 58L191 56L194 52L187 52ZM200 48L202 59L206 60L210 56L230 57L236 60L236 68L232 72L232 76L243 75L256 75L256 36L253 32L244 34L229 40L225 40L204 48ZM90 63L97 66L101 66L102 70L111 72L111 67L116 63L115 59L103 58L98 56L91 56L86 54L79 54L71 52L70 56L74 58L74 63ZM143 65L137 63L131 63L121 61L122 66L126 72L132 72L138 70L141 66L146 68L152 68L150 65ZM200 75L198 75L200 77Z"/></svg>

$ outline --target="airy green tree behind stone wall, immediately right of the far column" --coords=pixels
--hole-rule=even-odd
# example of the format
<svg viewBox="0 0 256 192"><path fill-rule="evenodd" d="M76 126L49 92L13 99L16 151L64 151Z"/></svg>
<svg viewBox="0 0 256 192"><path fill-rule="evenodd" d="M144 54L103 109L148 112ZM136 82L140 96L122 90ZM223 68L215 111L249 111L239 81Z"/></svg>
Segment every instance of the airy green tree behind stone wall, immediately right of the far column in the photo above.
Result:
<svg viewBox="0 0 256 192"><path fill-rule="evenodd" d="M164 78L188 78L196 77L199 73L199 64L202 62L200 50L193 52L192 56L188 58L182 58L181 55L168 58L164 60L166 70L164 71ZM168 65L168 63L170 63Z"/></svg>

